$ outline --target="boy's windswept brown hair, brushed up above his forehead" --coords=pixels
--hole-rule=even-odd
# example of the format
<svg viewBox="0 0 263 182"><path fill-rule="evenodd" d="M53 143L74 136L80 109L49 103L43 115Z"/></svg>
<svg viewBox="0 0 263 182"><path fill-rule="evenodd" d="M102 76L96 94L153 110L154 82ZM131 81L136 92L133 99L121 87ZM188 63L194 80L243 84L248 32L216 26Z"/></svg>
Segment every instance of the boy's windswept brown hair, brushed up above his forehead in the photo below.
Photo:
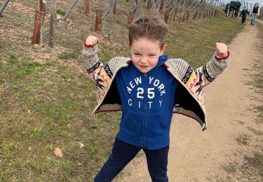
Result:
<svg viewBox="0 0 263 182"><path fill-rule="evenodd" d="M160 48L163 48L164 38L168 33L168 26L162 20L152 16L142 16L137 18L128 26L129 43L133 44L133 40L138 38L148 38L159 41Z"/></svg>

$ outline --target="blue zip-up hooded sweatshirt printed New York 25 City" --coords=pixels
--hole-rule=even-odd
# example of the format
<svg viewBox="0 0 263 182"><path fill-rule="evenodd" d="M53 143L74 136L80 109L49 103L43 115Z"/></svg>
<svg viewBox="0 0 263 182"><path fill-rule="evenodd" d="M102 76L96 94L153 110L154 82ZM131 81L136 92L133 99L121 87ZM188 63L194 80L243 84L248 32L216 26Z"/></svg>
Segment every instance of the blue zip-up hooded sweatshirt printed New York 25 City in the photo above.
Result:
<svg viewBox="0 0 263 182"><path fill-rule="evenodd" d="M168 73L164 63L167 55L148 73L133 64L121 69L116 83L122 103L118 139L134 146L155 150L170 143L177 80Z"/></svg>

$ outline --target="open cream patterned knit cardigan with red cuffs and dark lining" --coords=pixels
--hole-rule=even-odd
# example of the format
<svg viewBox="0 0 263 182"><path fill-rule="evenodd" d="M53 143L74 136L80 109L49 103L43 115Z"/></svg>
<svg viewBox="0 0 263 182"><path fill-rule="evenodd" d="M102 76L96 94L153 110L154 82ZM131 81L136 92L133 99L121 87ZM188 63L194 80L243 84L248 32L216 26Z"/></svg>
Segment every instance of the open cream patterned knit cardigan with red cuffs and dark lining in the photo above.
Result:
<svg viewBox="0 0 263 182"><path fill-rule="evenodd" d="M121 111L121 99L114 80L116 73L132 64L130 57L114 57L107 64L102 64L97 57L97 45L87 48L83 45L83 63L90 77L96 82L97 106L92 113L102 111ZM194 118L202 130L207 127L202 88L211 83L229 64L229 52L224 59L213 55L210 62L192 69L182 59L168 59L164 66L178 81L175 92L173 113L180 113Z"/></svg>

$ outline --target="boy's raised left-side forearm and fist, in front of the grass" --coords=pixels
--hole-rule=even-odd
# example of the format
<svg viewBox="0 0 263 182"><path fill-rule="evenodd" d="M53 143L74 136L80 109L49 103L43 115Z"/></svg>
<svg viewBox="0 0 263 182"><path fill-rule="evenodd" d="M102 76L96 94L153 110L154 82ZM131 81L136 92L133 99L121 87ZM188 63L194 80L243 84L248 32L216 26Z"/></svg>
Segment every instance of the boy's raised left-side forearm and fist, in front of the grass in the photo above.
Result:
<svg viewBox="0 0 263 182"><path fill-rule="evenodd" d="M82 58L85 69L94 81L97 80L103 66L100 59L97 57L97 41L97 37L88 36L83 44L82 50Z"/></svg>

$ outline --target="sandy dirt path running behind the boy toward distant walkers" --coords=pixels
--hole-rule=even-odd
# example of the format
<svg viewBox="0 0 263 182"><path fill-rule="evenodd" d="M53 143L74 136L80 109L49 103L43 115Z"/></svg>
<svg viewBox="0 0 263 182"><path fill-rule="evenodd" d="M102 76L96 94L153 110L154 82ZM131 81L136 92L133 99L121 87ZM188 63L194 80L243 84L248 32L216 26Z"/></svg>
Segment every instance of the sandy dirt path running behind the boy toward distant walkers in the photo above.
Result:
<svg viewBox="0 0 263 182"><path fill-rule="evenodd" d="M257 26L249 26L238 34L229 45L231 64L214 83L205 87L208 113L208 130L190 118L175 115L170 133L168 160L169 181L216 181L226 180L222 165L241 160L235 156L241 146L236 137L247 132L247 121L254 117L248 108L252 102L248 95L252 90L248 82L257 49ZM123 170L115 181L151 181L144 154Z"/></svg>

